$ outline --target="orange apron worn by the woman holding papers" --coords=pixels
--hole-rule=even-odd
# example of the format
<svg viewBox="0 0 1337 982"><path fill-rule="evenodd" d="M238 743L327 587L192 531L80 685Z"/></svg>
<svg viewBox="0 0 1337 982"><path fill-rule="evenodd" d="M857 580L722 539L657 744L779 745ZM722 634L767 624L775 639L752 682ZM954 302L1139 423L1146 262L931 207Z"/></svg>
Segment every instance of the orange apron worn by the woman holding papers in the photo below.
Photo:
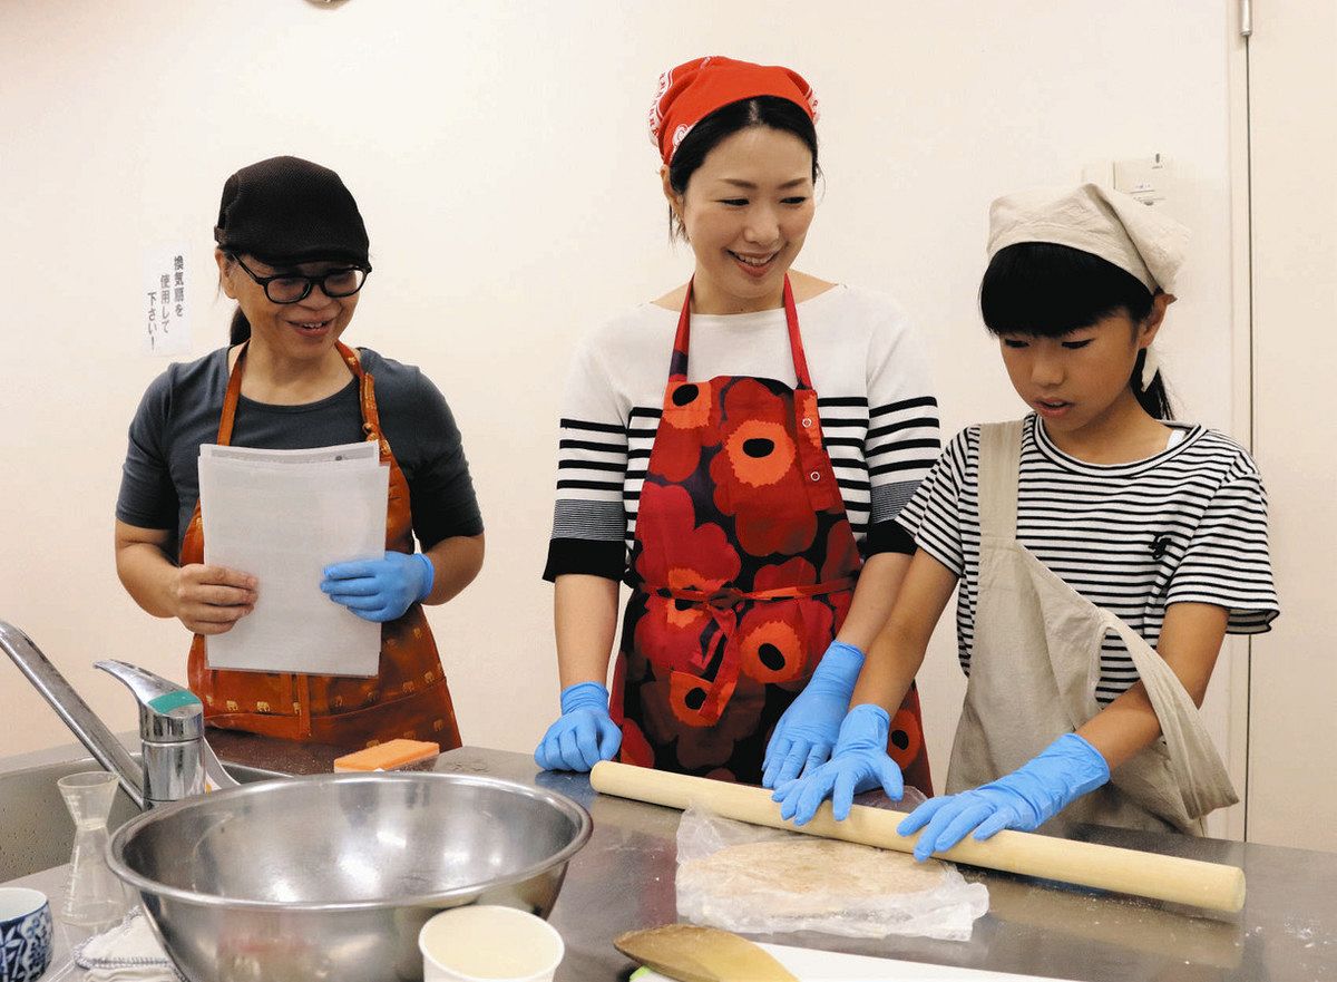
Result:
<svg viewBox="0 0 1337 982"><path fill-rule="evenodd" d="M381 433L376 392L357 352L344 344L338 352L357 379L362 405L362 432L381 446L381 463L390 468L385 547L413 553L409 487L390 444ZM218 443L229 446L237 401L242 391L246 348L242 347L227 380L218 421ZM199 502L180 542L180 565L205 562L205 528ZM314 585L313 585L314 586ZM207 641L197 634L190 646L190 688L205 702L205 720L223 729L361 749L385 740L431 740L443 751L460 745L460 730L445 685L445 672L421 603L381 625L381 665L374 678L309 676L287 672L233 672L209 668Z"/></svg>

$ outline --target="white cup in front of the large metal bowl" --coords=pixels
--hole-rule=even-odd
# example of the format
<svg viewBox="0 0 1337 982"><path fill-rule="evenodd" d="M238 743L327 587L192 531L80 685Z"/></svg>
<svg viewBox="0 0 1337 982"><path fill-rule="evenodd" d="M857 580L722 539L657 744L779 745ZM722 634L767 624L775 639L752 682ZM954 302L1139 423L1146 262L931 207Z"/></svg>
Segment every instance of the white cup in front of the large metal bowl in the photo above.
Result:
<svg viewBox="0 0 1337 982"><path fill-rule="evenodd" d="M424 982L552 982L566 945L528 911L475 904L422 924L418 951Z"/></svg>

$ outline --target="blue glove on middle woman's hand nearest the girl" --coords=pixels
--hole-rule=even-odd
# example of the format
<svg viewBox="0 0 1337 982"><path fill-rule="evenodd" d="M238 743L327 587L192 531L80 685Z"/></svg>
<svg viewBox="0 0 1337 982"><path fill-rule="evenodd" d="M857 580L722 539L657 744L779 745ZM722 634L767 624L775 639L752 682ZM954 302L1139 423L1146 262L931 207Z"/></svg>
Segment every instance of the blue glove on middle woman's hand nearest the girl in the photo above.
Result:
<svg viewBox="0 0 1337 982"><path fill-rule="evenodd" d="M801 773L812 773L832 756L840 724L849 712L864 653L833 641L798 698L779 717L766 744L761 787L775 788Z"/></svg>

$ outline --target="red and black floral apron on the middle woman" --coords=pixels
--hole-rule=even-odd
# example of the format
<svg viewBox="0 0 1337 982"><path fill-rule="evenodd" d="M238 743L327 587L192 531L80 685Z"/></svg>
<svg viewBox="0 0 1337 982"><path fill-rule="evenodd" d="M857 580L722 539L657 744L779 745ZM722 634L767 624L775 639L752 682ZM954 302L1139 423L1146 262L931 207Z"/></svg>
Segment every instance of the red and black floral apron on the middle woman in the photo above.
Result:
<svg viewBox="0 0 1337 982"><path fill-rule="evenodd" d="M775 722L849 613L862 559L787 278L785 320L797 388L693 383L687 288L627 571L610 706L623 763L759 784ZM932 793L913 686L888 752Z"/></svg>

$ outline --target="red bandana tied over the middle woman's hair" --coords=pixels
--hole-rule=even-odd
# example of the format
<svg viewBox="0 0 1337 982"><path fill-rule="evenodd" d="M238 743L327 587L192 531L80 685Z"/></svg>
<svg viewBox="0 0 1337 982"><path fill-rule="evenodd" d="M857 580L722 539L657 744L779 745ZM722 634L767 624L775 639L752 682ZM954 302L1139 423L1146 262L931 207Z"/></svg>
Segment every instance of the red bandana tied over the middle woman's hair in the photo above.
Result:
<svg viewBox="0 0 1337 982"><path fill-rule="evenodd" d="M729 103L758 95L789 99L817 120L817 96L798 72L710 55L659 76L659 90L650 107L650 140L668 163L691 127Z"/></svg>

